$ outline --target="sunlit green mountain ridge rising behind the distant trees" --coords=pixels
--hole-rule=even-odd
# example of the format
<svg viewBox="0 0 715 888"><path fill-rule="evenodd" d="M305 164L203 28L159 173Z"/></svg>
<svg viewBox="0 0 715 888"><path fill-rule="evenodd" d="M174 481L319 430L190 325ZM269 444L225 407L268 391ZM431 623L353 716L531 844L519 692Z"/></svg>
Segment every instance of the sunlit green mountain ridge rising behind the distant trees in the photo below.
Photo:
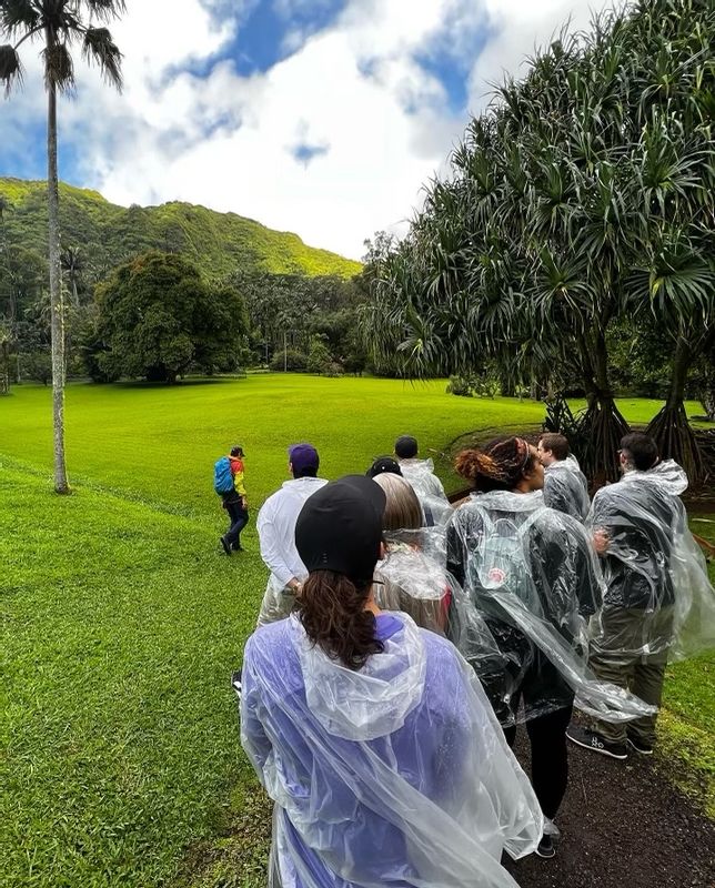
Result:
<svg viewBox="0 0 715 888"><path fill-rule="evenodd" d="M44 255L46 182L0 178L0 198L7 203L2 218L8 242ZM359 262L308 246L298 234L274 231L235 213L180 201L125 208L97 191L64 182L60 183L60 230L63 248L79 248L98 278L147 250L183 253L215 276L261 270L351 278L361 270Z"/></svg>

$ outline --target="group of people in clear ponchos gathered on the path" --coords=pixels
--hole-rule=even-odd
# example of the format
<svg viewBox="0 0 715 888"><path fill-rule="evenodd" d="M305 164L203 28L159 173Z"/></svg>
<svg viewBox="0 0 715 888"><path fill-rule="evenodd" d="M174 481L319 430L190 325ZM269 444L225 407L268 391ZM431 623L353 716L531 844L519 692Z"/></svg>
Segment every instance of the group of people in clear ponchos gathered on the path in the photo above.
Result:
<svg viewBox="0 0 715 888"><path fill-rule="evenodd" d="M652 753L665 665L715 644L715 594L683 470L637 433L620 460L591 503L562 435L497 438L457 455L453 507L411 436L333 482L290 448L240 679L271 886L514 886L504 851L555 855L567 739Z"/></svg>

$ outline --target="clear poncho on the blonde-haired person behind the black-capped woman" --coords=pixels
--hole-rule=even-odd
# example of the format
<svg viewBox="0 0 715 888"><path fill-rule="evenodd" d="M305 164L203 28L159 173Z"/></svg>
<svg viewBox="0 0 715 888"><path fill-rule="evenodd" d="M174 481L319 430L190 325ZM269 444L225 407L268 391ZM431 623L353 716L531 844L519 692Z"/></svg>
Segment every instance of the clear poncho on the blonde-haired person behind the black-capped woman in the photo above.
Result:
<svg viewBox="0 0 715 888"><path fill-rule="evenodd" d="M481 676L503 673L505 659L462 586L446 569L444 526L385 534L373 592L384 610L402 610L422 628L449 638Z"/></svg>

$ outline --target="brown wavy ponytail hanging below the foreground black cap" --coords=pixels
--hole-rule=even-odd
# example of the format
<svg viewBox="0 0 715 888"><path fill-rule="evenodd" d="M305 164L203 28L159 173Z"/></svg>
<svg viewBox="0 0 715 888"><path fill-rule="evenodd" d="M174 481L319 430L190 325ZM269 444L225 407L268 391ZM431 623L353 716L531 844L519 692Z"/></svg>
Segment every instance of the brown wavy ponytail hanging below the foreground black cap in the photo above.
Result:
<svg viewBox="0 0 715 888"><path fill-rule="evenodd" d="M375 638L374 614L364 609L369 594L370 584L358 588L343 574L313 571L295 602L311 642L349 669L361 669L371 654L384 649Z"/></svg>

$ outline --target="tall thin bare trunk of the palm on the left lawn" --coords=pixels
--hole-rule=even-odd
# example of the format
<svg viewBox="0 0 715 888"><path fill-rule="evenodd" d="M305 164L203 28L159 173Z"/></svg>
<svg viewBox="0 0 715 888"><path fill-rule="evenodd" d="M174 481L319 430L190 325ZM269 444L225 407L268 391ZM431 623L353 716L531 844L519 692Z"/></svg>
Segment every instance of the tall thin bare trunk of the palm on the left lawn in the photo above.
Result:
<svg viewBox="0 0 715 888"><path fill-rule="evenodd" d="M50 37L48 34L48 41ZM64 312L60 270L60 190L57 172L57 89L48 85L48 212L50 222L50 317L52 334L52 431L54 490L70 493L64 464Z"/></svg>

